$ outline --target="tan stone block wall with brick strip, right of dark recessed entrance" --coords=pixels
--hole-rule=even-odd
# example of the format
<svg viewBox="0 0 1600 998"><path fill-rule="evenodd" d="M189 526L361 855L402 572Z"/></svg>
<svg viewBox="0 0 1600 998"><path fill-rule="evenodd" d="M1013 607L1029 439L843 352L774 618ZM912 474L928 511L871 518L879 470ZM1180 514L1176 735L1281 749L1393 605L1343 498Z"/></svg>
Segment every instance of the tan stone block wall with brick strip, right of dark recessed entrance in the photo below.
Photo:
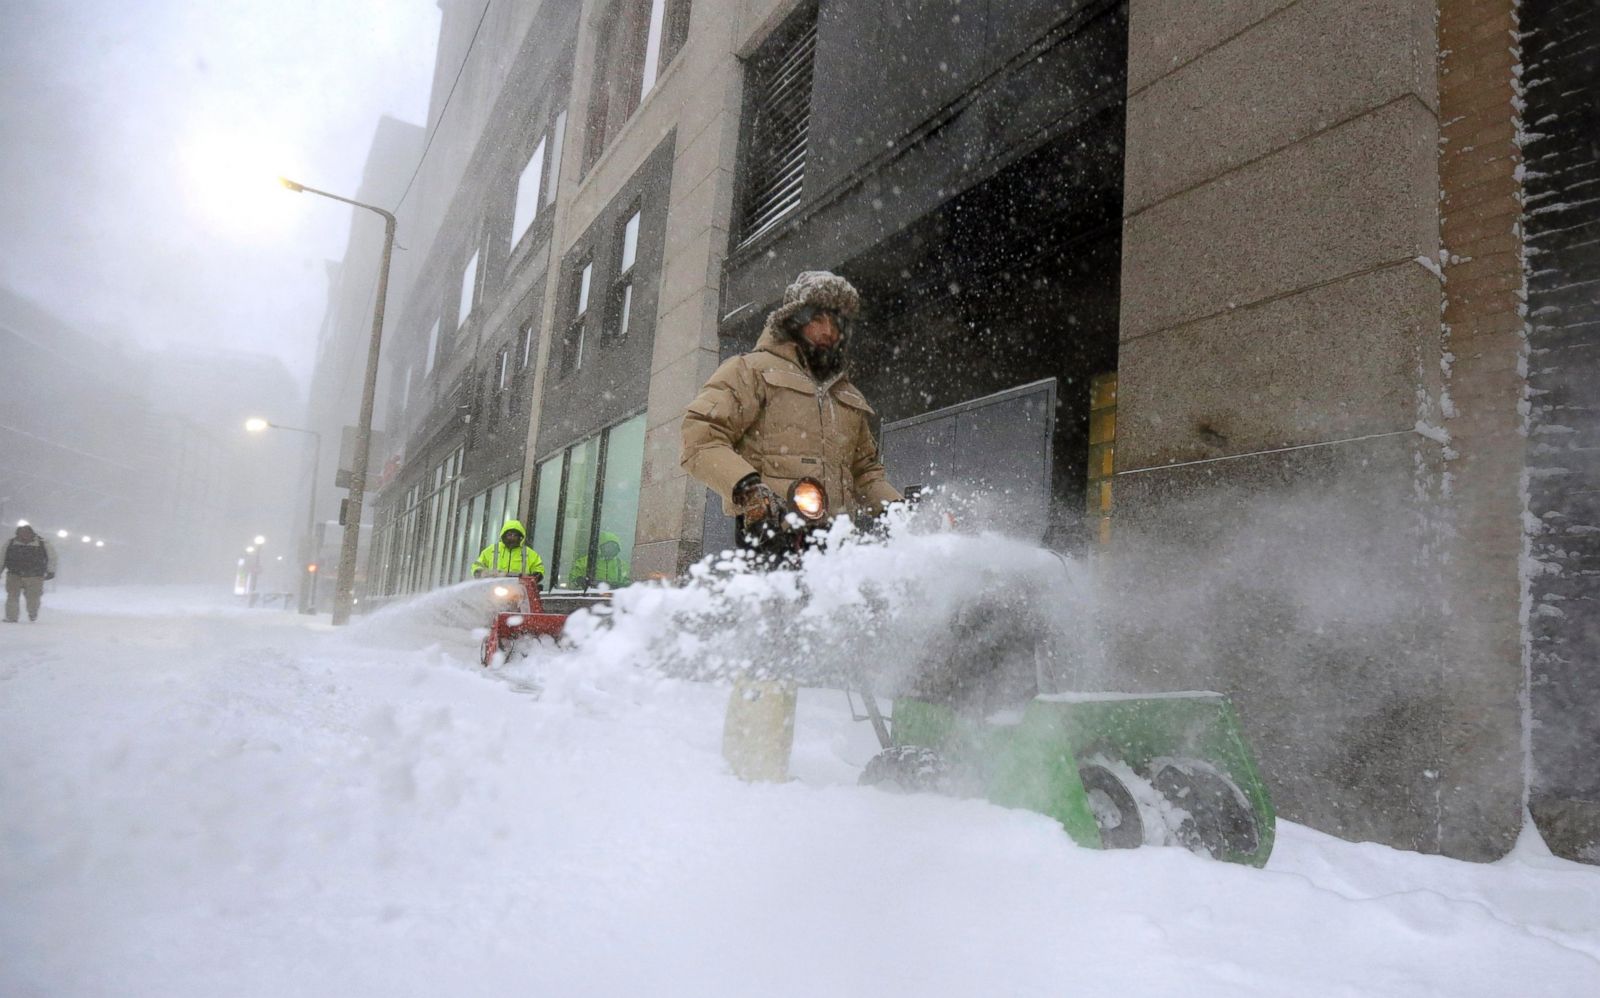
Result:
<svg viewBox="0 0 1600 998"><path fill-rule="evenodd" d="M1523 804L1512 26L1130 5L1115 680L1235 694L1286 817L1475 859Z"/></svg>

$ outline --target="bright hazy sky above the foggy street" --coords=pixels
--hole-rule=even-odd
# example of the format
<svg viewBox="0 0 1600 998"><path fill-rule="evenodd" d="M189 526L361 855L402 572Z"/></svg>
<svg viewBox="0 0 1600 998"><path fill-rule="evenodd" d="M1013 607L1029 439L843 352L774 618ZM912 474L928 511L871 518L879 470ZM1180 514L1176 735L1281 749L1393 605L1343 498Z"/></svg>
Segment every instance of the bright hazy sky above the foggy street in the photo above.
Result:
<svg viewBox="0 0 1600 998"><path fill-rule="evenodd" d="M0 0L0 283L302 382L381 114L424 123L432 0ZM392 208L392 205L386 205Z"/></svg>

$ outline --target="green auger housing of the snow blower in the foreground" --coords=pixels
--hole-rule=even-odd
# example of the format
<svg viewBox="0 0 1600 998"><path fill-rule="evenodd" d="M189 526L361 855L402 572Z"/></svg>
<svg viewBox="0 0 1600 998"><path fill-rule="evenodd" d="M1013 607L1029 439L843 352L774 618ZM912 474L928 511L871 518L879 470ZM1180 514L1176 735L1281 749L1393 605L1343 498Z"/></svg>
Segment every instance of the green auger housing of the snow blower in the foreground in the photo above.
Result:
<svg viewBox="0 0 1600 998"><path fill-rule="evenodd" d="M1219 693L1038 696L982 721L898 699L893 745L862 782L931 788L930 774L1048 814L1082 846L1179 844L1253 867L1272 852L1272 798Z"/></svg>

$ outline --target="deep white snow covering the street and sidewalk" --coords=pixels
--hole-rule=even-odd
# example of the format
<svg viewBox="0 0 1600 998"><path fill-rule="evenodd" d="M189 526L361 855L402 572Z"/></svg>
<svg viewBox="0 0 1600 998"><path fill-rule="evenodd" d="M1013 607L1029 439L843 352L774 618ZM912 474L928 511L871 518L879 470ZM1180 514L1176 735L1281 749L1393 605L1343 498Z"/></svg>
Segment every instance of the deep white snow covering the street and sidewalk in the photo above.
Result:
<svg viewBox="0 0 1600 998"><path fill-rule="evenodd" d="M598 645L534 697L443 625L53 593L0 630L0 993L1600 995L1600 870L1530 836L1094 852L858 788L829 691L746 785L725 688Z"/></svg>

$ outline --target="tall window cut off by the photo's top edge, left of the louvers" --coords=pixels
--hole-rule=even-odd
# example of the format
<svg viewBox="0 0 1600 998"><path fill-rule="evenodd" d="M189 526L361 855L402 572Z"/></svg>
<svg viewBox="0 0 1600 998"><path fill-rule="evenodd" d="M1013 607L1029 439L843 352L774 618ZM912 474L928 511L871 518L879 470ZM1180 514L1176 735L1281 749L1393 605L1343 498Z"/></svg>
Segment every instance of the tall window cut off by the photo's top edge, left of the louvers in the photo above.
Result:
<svg viewBox="0 0 1600 998"><path fill-rule="evenodd" d="M638 110L688 38L690 0L614 0L595 48L584 173Z"/></svg>

